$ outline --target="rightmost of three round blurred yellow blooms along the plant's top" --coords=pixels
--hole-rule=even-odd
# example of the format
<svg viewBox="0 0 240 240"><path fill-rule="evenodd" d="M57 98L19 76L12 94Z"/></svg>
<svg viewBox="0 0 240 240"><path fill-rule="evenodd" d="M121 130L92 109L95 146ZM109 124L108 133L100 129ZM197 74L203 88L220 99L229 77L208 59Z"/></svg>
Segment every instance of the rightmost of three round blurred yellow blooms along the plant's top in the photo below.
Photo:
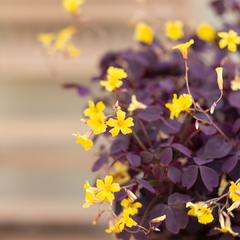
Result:
<svg viewBox="0 0 240 240"><path fill-rule="evenodd" d="M202 22L197 27L197 36L206 42L212 42L216 39L216 31L210 24Z"/></svg>

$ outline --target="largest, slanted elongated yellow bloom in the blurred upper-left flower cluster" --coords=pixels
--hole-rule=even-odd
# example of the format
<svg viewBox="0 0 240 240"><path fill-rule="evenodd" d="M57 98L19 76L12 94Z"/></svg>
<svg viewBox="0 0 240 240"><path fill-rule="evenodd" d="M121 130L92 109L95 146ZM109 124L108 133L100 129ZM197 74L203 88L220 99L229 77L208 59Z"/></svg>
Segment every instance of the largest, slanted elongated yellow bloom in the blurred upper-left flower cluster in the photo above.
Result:
<svg viewBox="0 0 240 240"><path fill-rule="evenodd" d="M68 41L71 39L73 34L77 32L77 28L74 26L69 26L64 29L62 29L57 36L56 41L53 44L53 47L56 50L61 50L63 51L66 48L66 44Z"/></svg>

